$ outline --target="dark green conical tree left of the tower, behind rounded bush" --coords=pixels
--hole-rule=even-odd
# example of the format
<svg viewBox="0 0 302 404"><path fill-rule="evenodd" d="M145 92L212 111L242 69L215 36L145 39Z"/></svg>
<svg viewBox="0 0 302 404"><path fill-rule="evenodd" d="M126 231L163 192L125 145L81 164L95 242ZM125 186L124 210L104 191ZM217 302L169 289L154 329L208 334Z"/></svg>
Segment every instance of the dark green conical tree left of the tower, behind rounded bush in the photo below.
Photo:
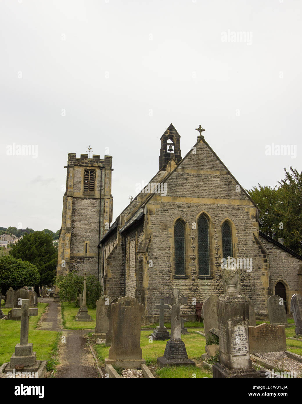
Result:
<svg viewBox="0 0 302 404"><path fill-rule="evenodd" d="M52 236L44 231L25 234L10 250L14 258L28 261L38 268L40 282L51 284L56 275L58 249L52 245ZM38 286L35 284L35 286Z"/></svg>

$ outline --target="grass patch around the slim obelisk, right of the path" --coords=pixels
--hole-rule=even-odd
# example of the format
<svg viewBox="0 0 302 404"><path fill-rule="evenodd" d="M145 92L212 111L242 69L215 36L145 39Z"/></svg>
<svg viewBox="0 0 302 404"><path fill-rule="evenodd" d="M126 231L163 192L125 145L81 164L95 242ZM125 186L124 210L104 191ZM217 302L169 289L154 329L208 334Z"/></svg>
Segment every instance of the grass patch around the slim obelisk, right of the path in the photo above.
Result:
<svg viewBox="0 0 302 404"><path fill-rule="evenodd" d="M62 324L67 330L92 330L95 328L96 309L88 309L92 321L75 321L79 307L76 303L61 302Z"/></svg>

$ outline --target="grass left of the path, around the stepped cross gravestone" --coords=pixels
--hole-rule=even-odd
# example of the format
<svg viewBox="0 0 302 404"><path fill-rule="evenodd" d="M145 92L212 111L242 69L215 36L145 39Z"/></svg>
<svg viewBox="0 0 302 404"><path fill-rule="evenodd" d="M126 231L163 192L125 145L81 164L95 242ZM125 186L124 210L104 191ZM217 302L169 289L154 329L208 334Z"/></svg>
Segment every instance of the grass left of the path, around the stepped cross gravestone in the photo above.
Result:
<svg viewBox="0 0 302 404"><path fill-rule="evenodd" d="M33 343L33 351L37 352L38 360L50 361L57 347L57 331L38 330L37 324L48 306L48 303L38 303L38 316L29 317L29 337L28 341ZM5 314L10 309L4 309ZM15 352L15 345L20 343L20 321L0 320L0 365L10 361L10 357Z"/></svg>

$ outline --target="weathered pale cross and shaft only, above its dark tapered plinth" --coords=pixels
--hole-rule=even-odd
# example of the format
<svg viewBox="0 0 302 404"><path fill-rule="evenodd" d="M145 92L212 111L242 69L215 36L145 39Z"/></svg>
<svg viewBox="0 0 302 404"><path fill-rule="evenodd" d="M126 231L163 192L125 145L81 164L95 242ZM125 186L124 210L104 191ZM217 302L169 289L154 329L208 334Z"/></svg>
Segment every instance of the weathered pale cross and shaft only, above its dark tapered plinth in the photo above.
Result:
<svg viewBox="0 0 302 404"><path fill-rule="evenodd" d="M165 303L172 307L171 339L181 339L180 309L184 304L188 304L188 298L182 295L178 288L172 288L172 292L165 297Z"/></svg>

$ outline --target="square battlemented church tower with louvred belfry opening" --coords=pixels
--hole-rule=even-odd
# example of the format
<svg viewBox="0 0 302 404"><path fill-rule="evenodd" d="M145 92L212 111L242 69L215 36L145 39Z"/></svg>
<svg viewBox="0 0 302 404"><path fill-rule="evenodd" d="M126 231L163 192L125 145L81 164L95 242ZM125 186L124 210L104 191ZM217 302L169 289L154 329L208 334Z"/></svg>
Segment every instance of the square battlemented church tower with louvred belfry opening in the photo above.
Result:
<svg viewBox="0 0 302 404"><path fill-rule="evenodd" d="M102 282L98 245L112 221L111 163L111 156L68 154L57 275L77 271Z"/></svg>

